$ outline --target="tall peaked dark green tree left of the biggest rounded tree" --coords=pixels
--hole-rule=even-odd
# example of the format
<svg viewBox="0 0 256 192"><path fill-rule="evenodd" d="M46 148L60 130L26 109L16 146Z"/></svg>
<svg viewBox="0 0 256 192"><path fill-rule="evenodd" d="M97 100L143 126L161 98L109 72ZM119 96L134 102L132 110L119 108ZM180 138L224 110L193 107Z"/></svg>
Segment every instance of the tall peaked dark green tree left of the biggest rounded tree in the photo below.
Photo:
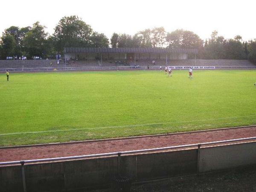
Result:
<svg viewBox="0 0 256 192"><path fill-rule="evenodd" d="M33 24L32 30L26 33L24 38L24 47L26 56L43 56L46 52L46 38L45 26L39 24L39 21Z"/></svg>

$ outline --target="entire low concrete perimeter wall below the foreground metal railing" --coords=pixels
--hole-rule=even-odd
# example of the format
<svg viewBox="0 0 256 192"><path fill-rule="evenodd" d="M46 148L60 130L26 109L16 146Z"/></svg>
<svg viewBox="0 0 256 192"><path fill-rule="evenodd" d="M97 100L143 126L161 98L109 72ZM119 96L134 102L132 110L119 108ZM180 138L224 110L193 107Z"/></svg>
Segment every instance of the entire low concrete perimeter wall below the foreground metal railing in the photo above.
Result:
<svg viewBox="0 0 256 192"><path fill-rule="evenodd" d="M133 182L256 164L256 142L122 155L119 172ZM23 192L22 166L0 167L0 191ZM85 191L118 176L118 157L25 164L27 192Z"/></svg>

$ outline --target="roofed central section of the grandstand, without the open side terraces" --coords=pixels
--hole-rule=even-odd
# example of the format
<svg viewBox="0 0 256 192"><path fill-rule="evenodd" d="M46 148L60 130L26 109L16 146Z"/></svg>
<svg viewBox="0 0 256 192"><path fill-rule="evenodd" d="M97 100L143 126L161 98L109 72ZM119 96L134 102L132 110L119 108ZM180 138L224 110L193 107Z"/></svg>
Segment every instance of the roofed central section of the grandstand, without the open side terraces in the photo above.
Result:
<svg viewBox="0 0 256 192"><path fill-rule="evenodd" d="M163 60L186 60L188 54L198 54L198 49L169 49L169 48L65 48L65 59L77 61L95 61L98 60L102 64L120 63L129 64L148 64L148 61Z"/></svg>

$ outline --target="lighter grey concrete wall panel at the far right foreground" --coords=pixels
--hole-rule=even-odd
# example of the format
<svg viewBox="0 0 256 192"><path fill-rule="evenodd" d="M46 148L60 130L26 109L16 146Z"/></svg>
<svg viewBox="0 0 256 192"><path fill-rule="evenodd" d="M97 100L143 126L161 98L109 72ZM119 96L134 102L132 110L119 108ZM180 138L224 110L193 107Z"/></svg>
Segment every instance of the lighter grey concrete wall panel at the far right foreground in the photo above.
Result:
<svg viewBox="0 0 256 192"><path fill-rule="evenodd" d="M199 172L209 172L256 163L256 143L201 148Z"/></svg>

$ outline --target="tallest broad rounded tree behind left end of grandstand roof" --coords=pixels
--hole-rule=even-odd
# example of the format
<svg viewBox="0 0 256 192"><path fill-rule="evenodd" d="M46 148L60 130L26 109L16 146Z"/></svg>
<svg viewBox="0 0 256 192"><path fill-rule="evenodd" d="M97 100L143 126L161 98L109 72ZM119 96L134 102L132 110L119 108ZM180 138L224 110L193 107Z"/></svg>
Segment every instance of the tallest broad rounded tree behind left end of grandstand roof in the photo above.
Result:
<svg viewBox="0 0 256 192"><path fill-rule="evenodd" d="M64 47L91 47L93 29L78 16L62 17L55 27L53 37L55 47L63 51Z"/></svg>

